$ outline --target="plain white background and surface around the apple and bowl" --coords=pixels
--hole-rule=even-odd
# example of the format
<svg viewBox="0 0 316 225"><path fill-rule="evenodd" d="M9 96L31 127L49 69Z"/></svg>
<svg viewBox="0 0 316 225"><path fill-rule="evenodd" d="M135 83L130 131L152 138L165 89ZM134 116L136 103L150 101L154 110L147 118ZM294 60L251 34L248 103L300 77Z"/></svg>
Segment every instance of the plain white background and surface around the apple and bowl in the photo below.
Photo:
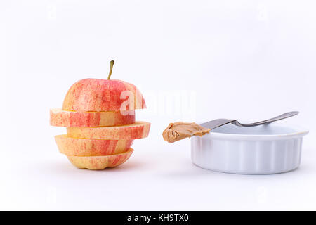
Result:
<svg viewBox="0 0 316 225"><path fill-rule="evenodd" d="M315 6L1 1L0 209L316 210ZM112 59L112 79L143 92L148 109L137 119L152 123L150 136L121 167L77 169L58 153L53 136L65 129L49 126L49 108L60 108L77 80L106 79ZM172 108L178 99L192 101ZM257 121L290 110L300 114L284 123L310 134L301 166L286 174L200 169L190 140L162 139L169 122Z"/></svg>

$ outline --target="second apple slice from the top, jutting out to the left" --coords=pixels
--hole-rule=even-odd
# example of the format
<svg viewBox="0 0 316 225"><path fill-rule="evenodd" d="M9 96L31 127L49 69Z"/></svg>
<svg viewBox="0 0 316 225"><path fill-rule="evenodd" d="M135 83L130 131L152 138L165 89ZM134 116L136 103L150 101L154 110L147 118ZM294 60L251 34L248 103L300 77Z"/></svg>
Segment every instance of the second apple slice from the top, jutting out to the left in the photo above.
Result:
<svg viewBox="0 0 316 225"><path fill-rule="evenodd" d="M74 112L51 109L50 122L57 127L120 126L135 122L135 111Z"/></svg>

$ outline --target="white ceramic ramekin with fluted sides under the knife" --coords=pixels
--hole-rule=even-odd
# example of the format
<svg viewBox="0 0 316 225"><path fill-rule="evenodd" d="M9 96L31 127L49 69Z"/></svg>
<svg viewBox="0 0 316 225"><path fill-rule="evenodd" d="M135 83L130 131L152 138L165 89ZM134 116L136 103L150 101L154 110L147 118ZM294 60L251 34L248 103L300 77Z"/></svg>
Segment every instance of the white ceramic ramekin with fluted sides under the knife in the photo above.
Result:
<svg viewBox="0 0 316 225"><path fill-rule="evenodd" d="M226 124L191 138L192 162L204 169L234 174L277 174L301 162L308 131L275 122L257 127Z"/></svg>

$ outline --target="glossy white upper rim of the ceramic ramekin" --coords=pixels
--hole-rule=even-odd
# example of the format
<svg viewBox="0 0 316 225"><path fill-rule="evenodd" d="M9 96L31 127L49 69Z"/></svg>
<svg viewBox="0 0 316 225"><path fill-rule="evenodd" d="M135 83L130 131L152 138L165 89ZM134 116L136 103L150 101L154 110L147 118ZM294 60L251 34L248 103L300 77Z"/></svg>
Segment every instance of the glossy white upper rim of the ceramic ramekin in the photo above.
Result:
<svg viewBox="0 0 316 225"><path fill-rule="evenodd" d="M270 125L270 124L269 124ZM289 134L228 134L228 133L219 133L215 131L210 131L209 134L202 136L202 139L228 139L228 140L275 140L275 139L293 139L305 136L309 133L308 129L299 127L292 124L280 124L277 122L272 122L271 125L278 127L286 127L296 130L293 133Z"/></svg>

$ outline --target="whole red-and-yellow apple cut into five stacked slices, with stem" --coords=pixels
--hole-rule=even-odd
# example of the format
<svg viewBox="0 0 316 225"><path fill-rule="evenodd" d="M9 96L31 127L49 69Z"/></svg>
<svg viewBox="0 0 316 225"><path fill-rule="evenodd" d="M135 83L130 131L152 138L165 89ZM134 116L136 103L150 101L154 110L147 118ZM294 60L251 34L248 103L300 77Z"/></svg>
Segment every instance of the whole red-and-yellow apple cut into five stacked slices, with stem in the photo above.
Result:
<svg viewBox="0 0 316 225"><path fill-rule="evenodd" d="M62 109L50 112L51 125L67 127L67 134L55 136L58 149L78 168L121 165L133 153L133 140L149 134L149 122L135 121L135 110L146 108L140 91L133 84L110 80L110 75L76 82Z"/></svg>

